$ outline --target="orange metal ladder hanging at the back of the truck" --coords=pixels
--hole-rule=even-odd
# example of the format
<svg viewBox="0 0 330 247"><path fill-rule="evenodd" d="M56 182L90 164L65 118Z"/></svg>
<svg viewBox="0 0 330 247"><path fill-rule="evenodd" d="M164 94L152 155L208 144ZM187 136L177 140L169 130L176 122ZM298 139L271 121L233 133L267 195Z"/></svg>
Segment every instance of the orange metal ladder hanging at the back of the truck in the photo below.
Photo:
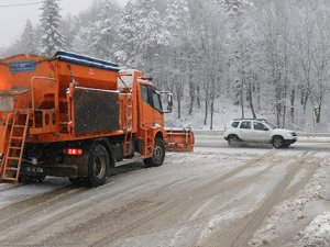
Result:
<svg viewBox="0 0 330 247"><path fill-rule="evenodd" d="M19 181L30 116L29 112L20 112L10 113L7 119L6 132L10 128L10 133L7 153L2 161L3 169L1 169L0 178L2 181ZM21 122L24 122L24 125L20 123L20 117L23 119Z"/></svg>

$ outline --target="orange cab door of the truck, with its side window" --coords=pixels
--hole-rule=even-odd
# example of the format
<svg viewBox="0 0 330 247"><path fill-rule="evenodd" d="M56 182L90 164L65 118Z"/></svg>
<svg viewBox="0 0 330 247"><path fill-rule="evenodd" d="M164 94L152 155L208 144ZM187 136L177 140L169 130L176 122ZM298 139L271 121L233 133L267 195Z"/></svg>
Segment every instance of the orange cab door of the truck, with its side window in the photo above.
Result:
<svg viewBox="0 0 330 247"><path fill-rule="evenodd" d="M140 85L141 106L140 123L141 127L147 128L160 124L164 126L163 106L155 87L150 85Z"/></svg>

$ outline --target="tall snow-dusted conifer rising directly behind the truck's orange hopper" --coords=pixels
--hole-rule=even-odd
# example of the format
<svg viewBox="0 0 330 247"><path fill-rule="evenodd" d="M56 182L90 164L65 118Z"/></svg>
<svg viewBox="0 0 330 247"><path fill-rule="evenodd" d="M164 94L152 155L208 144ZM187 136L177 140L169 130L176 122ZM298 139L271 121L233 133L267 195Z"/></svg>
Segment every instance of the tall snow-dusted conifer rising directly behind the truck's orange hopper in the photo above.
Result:
<svg viewBox="0 0 330 247"><path fill-rule="evenodd" d="M43 36L40 50L46 56L52 56L56 50L65 48L65 41L59 30L62 16L58 0L43 0L41 11Z"/></svg>

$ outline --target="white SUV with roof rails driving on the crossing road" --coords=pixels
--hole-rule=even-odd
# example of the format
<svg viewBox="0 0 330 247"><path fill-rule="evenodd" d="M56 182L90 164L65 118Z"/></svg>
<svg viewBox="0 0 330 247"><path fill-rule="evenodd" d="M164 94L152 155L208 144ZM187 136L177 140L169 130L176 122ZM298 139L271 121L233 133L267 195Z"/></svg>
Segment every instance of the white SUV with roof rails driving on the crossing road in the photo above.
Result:
<svg viewBox="0 0 330 247"><path fill-rule="evenodd" d="M230 121L223 137L230 146L238 146L240 143L270 143L275 148L288 147L298 139L296 132L277 128L263 119Z"/></svg>

